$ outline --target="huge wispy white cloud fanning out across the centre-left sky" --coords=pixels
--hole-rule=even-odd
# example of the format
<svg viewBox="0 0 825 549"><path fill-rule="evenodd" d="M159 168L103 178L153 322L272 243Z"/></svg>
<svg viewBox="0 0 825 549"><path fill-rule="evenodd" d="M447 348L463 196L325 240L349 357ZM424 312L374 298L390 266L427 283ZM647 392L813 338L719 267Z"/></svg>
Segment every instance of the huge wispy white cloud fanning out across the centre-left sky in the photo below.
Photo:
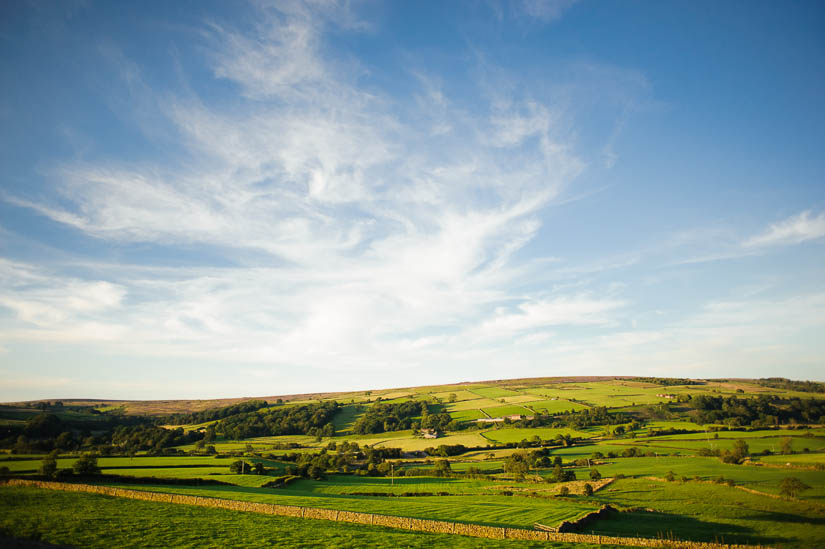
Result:
<svg viewBox="0 0 825 549"><path fill-rule="evenodd" d="M55 172L60 200L12 198L107 241L253 259L78 266L85 286L18 266L33 280L0 296L20 322L0 341L341 370L477 352L468 327L512 300L510 284L527 274L514 254L583 163L554 108L534 98L470 116L414 71L420 90L408 104L364 91L352 62L325 50L342 18L324 9L264 7L253 32L211 28L214 73L242 98L156 98L189 160L67 164ZM553 323L588 313L578 315Z"/></svg>

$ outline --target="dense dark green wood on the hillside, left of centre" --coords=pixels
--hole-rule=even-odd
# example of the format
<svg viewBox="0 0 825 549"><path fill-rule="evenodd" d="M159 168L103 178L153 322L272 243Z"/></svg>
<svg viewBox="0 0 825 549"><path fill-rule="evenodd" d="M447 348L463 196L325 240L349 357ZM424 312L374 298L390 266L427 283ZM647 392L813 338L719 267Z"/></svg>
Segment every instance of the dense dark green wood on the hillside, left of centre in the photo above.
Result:
<svg viewBox="0 0 825 549"><path fill-rule="evenodd" d="M256 410L226 417L213 424L213 430L234 440L279 435L331 437L335 435L332 418L339 411L335 401Z"/></svg>

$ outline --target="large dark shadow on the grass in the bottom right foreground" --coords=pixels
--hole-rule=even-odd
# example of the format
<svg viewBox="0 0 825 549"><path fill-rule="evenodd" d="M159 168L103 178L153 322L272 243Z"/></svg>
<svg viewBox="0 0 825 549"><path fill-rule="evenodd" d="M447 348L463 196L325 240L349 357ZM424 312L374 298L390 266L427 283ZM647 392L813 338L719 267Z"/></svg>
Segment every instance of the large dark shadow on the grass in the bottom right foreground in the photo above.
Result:
<svg viewBox="0 0 825 549"><path fill-rule="evenodd" d="M644 510L614 513L582 528L582 533L688 541L775 545L794 540L758 535L753 528Z"/></svg>

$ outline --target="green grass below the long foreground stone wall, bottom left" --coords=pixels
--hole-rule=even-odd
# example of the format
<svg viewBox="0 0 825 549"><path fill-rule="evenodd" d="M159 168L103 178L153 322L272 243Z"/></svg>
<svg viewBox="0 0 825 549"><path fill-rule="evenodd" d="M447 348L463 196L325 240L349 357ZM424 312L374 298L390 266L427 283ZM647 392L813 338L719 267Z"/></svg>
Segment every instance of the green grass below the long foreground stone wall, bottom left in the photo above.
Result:
<svg viewBox="0 0 825 549"><path fill-rule="evenodd" d="M0 488L0 536L91 548L573 547L7 487Z"/></svg>

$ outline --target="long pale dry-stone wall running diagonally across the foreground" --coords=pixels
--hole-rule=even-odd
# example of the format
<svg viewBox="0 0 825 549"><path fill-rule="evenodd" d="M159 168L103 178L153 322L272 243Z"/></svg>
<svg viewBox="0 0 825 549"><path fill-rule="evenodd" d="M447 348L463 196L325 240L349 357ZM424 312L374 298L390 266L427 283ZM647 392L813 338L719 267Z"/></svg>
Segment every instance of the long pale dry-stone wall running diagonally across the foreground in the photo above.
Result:
<svg viewBox="0 0 825 549"><path fill-rule="evenodd" d="M7 479L0 485L42 488L46 490L62 490L67 492L87 492L105 496L138 499L144 501L154 501L159 503L197 505L199 507L229 509L232 511L244 511L249 513L260 513L266 515L323 519L338 522L350 522L355 524L371 524L375 526L387 526L390 528L399 528L403 530L434 532L441 534L458 534L462 536L472 536L489 539L518 539L529 541L613 544L629 545L634 547L667 547L671 549L754 549L760 547L755 545L729 545L719 543L677 541L667 539L602 536L596 534L575 534L568 532L547 532L543 530L527 530L524 528L504 528L500 526L485 526L482 524L467 524L462 522L448 522L441 520L417 519L411 517L397 517L392 515L378 515L373 513L360 513L357 511L341 511L336 509L322 509L317 507L299 507L296 505L255 503L203 496L169 494L164 492L128 490L125 488L97 486L92 484Z"/></svg>

